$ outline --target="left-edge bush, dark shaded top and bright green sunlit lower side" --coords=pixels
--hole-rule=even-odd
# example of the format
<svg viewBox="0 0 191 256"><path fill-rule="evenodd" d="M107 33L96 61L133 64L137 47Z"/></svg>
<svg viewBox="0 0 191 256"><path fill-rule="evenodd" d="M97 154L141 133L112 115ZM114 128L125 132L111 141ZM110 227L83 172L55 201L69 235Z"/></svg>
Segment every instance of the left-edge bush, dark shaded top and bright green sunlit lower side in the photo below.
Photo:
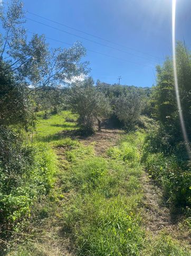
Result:
<svg viewBox="0 0 191 256"><path fill-rule="evenodd" d="M49 192L56 157L46 144L23 145L10 129L0 133L0 222L12 225Z"/></svg>

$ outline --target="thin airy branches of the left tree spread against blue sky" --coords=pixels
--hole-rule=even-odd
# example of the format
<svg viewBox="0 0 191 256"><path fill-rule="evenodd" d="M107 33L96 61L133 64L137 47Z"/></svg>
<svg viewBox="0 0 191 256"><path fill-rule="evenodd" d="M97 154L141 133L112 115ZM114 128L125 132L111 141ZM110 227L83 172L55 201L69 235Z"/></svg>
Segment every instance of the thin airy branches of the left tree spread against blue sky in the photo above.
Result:
<svg viewBox="0 0 191 256"><path fill-rule="evenodd" d="M14 72L18 81L33 87L57 86L88 73L88 62L81 63L85 49L76 42L69 49L50 49L43 35L27 37L23 27L23 4L12 0L6 11L1 6L0 63L9 65L7 73Z"/></svg>

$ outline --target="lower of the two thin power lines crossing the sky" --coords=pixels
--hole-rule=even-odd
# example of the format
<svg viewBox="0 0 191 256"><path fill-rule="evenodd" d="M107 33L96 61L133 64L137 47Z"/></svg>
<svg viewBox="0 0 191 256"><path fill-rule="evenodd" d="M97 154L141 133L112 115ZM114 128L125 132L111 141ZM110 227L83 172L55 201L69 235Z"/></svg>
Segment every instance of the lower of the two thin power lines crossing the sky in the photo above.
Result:
<svg viewBox="0 0 191 256"><path fill-rule="evenodd" d="M39 24L42 24L42 25L44 25L44 26L46 26L46 27L49 27L49 28L52 28L52 29L55 29L55 30L58 30L58 31L61 31L61 32L64 32L64 33L67 33L67 34L71 34L71 35L74 36L74 37L78 37L78 38L81 38L81 39L84 39L84 40L87 40L87 41L90 41L90 42L93 42L93 43L97 43L98 45L101 45L101 46L108 47L108 48L113 49L113 50L118 50L118 51L121 51L121 52L125 52L126 54L129 54L129 55L132 55L132 56L135 56L135 57L139 57L139 58L144 58L144 59L146 59L146 60L155 62L154 60L150 60L150 59L147 59L147 58L145 58L145 57L138 56L138 55L132 54L132 53L130 53L130 52L127 52L127 51L123 51L123 50L114 48L114 47L112 47L112 46L104 45L103 43L96 42L96 41L94 41L94 40L91 40L91 39L88 39L88 38L84 38L84 37L78 36L77 34L74 34L74 33L71 33L71 32L68 32L68 31L65 31L65 30L56 28L56 27L53 27L53 26L48 25L48 24L45 24L45 23L43 23L43 22L36 21L36 20L30 19L30 18L26 18L26 19L27 19L27 20L30 20L30 21L33 21L33 22L36 22L36 23L39 23Z"/></svg>

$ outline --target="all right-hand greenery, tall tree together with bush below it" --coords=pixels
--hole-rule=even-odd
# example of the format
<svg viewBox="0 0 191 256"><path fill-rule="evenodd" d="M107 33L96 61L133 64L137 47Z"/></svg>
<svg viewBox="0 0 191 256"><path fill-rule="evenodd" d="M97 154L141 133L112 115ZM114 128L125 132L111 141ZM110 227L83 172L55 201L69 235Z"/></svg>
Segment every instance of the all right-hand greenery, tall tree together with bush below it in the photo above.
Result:
<svg viewBox="0 0 191 256"><path fill-rule="evenodd" d="M158 127L152 128L146 137L144 156L146 169L164 189L165 199L174 205L190 207L190 166L182 135L179 111L182 111L188 139L190 140L190 52L182 43L176 47L177 76L180 102L179 110L174 90L173 61L166 59L157 67L157 85L152 90L153 116ZM189 211L189 210L188 210Z"/></svg>

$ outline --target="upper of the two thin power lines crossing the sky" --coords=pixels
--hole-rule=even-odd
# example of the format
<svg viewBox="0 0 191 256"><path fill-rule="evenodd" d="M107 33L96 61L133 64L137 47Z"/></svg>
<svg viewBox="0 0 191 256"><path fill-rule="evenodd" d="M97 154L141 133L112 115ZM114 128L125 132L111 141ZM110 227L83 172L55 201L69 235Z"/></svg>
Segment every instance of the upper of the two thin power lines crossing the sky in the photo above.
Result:
<svg viewBox="0 0 191 256"><path fill-rule="evenodd" d="M125 47L125 48L127 48L127 49L129 49L129 50L133 50L133 51L140 52L141 54L145 54L145 55L151 56L151 57L153 57L153 58L161 59L160 57L157 57L157 56L148 54L148 53L146 53L146 52L142 52L142 51L139 51L139 50L137 50L137 49L134 49L134 48L130 48L130 47L121 45L120 43L112 42L112 41L110 41L110 40L107 40L107 39L104 39L104 38L95 36L95 35L93 35L93 34L91 34L91 33L82 31L82 30L80 30L80 29L75 29L75 28L73 28L73 27L70 27L69 25L65 25L65 24L63 24L63 23L61 23L61 22L48 19L47 17L43 17L43 16L41 16L41 15L39 15L39 14L30 12L30 11L26 11L26 12L27 12L27 13L30 13L30 14L32 14L32 15L35 15L35 16L37 16L37 17L41 17L41 18L44 19L44 20L51 21L51 22L53 22L53 23L55 23L55 24L62 25L62 26L64 26L64 27L66 27L66 28L69 28L69 29L72 29L72 30L75 30L75 31L78 31L78 32L81 32L81 33L84 33L84 34L87 34L88 36L91 36L91 37L94 37L94 38L97 38L97 39L100 39L100 40L103 40L103 41L106 41L106 42L109 42L109 43L113 43L114 45L117 45L117 46L120 46L120 47Z"/></svg>

